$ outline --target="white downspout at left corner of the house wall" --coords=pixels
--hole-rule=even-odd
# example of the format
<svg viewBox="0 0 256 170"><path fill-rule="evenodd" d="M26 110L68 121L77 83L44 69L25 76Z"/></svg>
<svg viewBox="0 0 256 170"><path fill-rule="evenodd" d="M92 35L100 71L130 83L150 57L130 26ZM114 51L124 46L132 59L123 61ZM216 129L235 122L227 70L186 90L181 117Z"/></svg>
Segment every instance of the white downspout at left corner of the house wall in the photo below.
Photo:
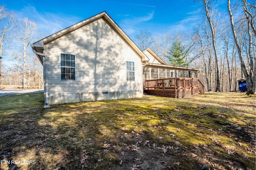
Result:
<svg viewBox="0 0 256 170"><path fill-rule="evenodd" d="M39 53L37 52L34 48L32 48L33 52L37 55L42 55L43 58L43 67L45 70L45 74L44 74L44 80L45 80L45 105L44 105L44 109L45 108L50 108L50 105L48 104L48 59L47 56L44 53Z"/></svg>

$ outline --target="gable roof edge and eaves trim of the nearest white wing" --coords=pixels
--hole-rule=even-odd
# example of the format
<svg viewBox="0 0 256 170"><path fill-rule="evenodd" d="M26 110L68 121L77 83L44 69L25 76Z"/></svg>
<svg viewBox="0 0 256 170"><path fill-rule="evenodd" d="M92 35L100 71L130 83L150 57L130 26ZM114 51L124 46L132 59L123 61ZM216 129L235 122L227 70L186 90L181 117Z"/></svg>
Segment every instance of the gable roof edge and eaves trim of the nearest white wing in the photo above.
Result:
<svg viewBox="0 0 256 170"><path fill-rule="evenodd" d="M110 16L104 11L101 12L100 14L97 14L95 16L92 16L86 20L83 20L81 22L78 22L77 24L74 24L68 28L65 28L59 32L56 32L55 34L52 34L46 38L43 38L42 40L39 40L38 42L35 42L31 44L31 47L36 53L38 59L40 62L43 64L43 50L44 50L44 45L56 40L57 38L60 38L74 30L77 30L78 28L81 28L87 24L90 24L91 22L94 22L100 18L104 18L119 34L124 38L124 40L138 53L138 55L142 58L142 61L149 61L148 57L139 49L139 47L125 34L125 32L110 18Z"/></svg>

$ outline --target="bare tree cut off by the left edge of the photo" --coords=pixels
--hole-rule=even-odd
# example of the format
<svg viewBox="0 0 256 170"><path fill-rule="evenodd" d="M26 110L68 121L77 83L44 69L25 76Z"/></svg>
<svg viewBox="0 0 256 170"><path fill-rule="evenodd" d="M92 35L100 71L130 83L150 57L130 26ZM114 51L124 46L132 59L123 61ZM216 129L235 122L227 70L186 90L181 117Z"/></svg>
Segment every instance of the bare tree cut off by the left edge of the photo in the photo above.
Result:
<svg viewBox="0 0 256 170"><path fill-rule="evenodd" d="M2 53L3 45L8 38L8 33L14 29L16 18L14 12L7 12L6 6L0 6L0 90L2 73Z"/></svg>

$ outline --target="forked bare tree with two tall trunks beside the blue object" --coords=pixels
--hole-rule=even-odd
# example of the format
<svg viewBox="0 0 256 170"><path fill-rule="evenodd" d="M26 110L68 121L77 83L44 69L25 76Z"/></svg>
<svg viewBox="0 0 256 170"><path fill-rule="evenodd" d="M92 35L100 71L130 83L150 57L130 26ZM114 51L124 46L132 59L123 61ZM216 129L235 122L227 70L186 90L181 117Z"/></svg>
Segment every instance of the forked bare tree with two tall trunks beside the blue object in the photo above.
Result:
<svg viewBox="0 0 256 170"><path fill-rule="evenodd" d="M228 13L229 13L229 16L230 16L230 24L231 24L231 28L232 28L232 33L233 33L233 36L234 36L234 42L236 43L236 49L238 51L238 55L239 55L239 59L240 59L240 64L241 64L241 69L242 69L242 72L244 74L244 76L246 77L246 87L247 87L247 94L254 94L255 93L255 56L254 56L254 59L252 57L252 27L251 27L251 20L250 20L250 17L248 17L248 13L246 12L246 8L247 8L247 2L246 0L243 0L244 2L244 13L245 13L245 16L246 16L246 21L247 21L247 26L248 26L248 39L249 39L249 48L248 48L248 58L250 61L249 62L249 68L248 68L248 71L247 71L247 68L246 68L246 64L244 62L244 57L243 57L243 49L238 41L238 36L236 34L236 29L235 29L235 24L234 24L234 17L233 17L233 14L232 14L232 11L231 11L231 8L230 8L230 0L228 0L228 4L227 4L227 7L228 7Z"/></svg>

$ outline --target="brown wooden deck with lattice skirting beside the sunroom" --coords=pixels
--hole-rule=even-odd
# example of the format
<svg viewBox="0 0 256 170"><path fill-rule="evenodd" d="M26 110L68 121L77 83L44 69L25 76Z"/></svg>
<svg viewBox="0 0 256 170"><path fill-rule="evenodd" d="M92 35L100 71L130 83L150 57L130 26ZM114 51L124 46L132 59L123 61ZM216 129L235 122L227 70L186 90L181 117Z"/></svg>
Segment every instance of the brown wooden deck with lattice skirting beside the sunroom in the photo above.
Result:
<svg viewBox="0 0 256 170"><path fill-rule="evenodd" d="M204 85L198 78L168 78L144 80L144 91L150 95L171 98L190 98L204 94Z"/></svg>

